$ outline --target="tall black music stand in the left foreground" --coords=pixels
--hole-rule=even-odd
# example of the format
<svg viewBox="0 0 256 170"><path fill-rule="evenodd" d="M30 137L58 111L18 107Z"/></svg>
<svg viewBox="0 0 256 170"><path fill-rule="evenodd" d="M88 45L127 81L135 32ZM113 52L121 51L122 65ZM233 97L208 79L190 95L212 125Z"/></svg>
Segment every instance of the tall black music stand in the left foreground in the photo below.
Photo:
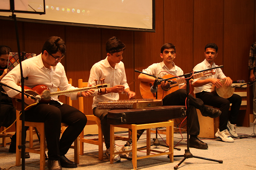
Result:
<svg viewBox="0 0 256 170"><path fill-rule="evenodd" d="M25 139L25 102L24 102L24 77L23 77L23 73L22 73L22 65L21 65L21 55L20 55L20 41L19 41L19 33L18 33L18 26L17 26L17 18L16 18L16 15L14 14L15 13L33 13L33 14L45 14L45 0L42 0L43 3L44 3L44 12L37 12L35 11L19 11L19 10L15 10L15 4L14 4L14 0L10 0L10 9L8 10L3 10L3 9L0 9L1 12L12 12L12 16L10 16L10 18L12 18L14 20L14 23L15 23L15 31L16 31L16 40L17 40L17 46L18 46L18 54L19 54L19 60L20 60L20 76L21 76L21 80L20 80L20 83L21 83L21 112L22 112L22 125L21 125L21 146L19 146L19 149L21 148L21 157L22 157L22 161L21 161L21 164L22 164L22 170L25 170L25 143L26 143L26 139ZM4 4L6 5L6 4ZM7 5L8 6L8 5ZM29 4L28 4L29 6ZM10 88L10 87L9 87Z"/></svg>

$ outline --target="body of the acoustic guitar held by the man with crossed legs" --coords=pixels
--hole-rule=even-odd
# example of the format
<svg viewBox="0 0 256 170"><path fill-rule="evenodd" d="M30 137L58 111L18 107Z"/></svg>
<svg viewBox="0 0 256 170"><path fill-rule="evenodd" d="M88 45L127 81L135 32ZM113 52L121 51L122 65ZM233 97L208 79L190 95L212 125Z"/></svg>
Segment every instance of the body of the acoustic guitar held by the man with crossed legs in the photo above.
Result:
<svg viewBox="0 0 256 170"><path fill-rule="evenodd" d="M164 75L162 78L171 78L173 77L170 74ZM176 78L173 78L172 80L176 81ZM150 92L150 87L153 86L154 82L140 82L140 94L143 99L156 99L156 93L151 93ZM157 99L162 99L166 95L175 92L176 90L179 89L179 84L170 84L170 83L165 83L165 85L158 85L157 87Z"/></svg>

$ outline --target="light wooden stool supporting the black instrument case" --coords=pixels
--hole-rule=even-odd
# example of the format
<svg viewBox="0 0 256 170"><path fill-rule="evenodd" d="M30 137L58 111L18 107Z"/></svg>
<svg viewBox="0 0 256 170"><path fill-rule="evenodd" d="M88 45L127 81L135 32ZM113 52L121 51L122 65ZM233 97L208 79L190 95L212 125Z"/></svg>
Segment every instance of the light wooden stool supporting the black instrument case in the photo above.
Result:
<svg viewBox="0 0 256 170"><path fill-rule="evenodd" d="M173 162L173 121L167 121L167 122L158 122L158 123L148 123L148 124L122 124L122 125L110 125L110 164L114 163L114 154L121 154L131 151L123 151L123 152L115 152L114 153L114 146L115 146L115 140L114 140L114 128L120 127L120 128L127 128L132 129L132 165L133 169L137 169L137 160L138 159L144 159L144 158L150 158L160 155L166 155L168 154L170 156L170 162ZM168 139L169 143L169 152L162 152L150 149L150 129L151 128L158 128L158 127L166 127L166 138ZM137 149L137 130L139 129L147 129L147 147L146 148L140 148ZM137 157L137 151L141 150L147 150L147 156L141 156ZM150 152L157 152L158 154L149 155Z"/></svg>

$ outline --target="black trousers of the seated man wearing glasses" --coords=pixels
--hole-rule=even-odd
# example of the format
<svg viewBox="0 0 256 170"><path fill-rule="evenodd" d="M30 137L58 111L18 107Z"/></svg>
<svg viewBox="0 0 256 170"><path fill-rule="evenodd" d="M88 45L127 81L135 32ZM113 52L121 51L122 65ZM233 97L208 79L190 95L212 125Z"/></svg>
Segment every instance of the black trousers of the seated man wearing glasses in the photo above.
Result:
<svg viewBox="0 0 256 170"><path fill-rule="evenodd" d="M49 160L60 160L60 156L68 152L87 122L86 116L76 108L52 100L49 105L38 104L25 111L25 120L44 122ZM61 122L66 123L68 128L60 139Z"/></svg>

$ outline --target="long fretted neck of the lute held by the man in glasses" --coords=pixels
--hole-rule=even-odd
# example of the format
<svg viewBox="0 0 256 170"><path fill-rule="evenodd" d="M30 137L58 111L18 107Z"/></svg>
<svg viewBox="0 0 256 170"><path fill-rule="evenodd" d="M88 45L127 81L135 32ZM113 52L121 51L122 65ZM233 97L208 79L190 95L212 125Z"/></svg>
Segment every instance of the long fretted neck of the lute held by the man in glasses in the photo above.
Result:
<svg viewBox="0 0 256 170"><path fill-rule="evenodd" d="M78 88L78 89L73 89L73 90L51 92L50 95L51 95L51 97L52 96L60 96L60 95L71 94L71 93L76 93L76 92L84 92L84 91L88 91L90 89L103 89L103 88L108 88L108 87L110 87L110 84L95 85L95 86L83 87L83 88Z"/></svg>

